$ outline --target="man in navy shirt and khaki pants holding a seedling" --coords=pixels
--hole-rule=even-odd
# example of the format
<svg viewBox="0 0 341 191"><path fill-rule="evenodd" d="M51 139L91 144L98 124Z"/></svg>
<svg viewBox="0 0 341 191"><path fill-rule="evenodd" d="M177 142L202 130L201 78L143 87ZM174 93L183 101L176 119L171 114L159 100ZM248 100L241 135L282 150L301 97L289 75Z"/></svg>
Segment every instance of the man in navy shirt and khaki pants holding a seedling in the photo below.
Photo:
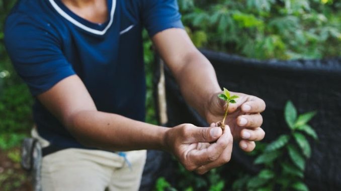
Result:
<svg viewBox="0 0 341 191"><path fill-rule="evenodd" d="M229 161L233 140L251 151L263 139L265 103L254 96L233 93L239 98L229 107L229 127L215 127L224 114L221 90L180 19L175 0L19 1L5 42L36 98L33 136L49 148L43 190L136 190L143 149L171 152L203 174ZM211 127L143 122L143 28L186 101Z"/></svg>

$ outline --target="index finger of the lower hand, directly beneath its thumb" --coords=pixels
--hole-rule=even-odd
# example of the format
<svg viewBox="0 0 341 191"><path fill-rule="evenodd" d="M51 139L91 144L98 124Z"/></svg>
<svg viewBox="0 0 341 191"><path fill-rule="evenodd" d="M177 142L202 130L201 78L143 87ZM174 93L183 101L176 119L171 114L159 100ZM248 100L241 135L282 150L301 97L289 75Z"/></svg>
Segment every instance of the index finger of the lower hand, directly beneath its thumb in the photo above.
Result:
<svg viewBox="0 0 341 191"><path fill-rule="evenodd" d="M186 159L192 161L197 168L213 162L217 160L226 149L230 139L233 140L231 133L224 133L219 137L217 142L211 143L207 148L202 150L194 149L188 152Z"/></svg>

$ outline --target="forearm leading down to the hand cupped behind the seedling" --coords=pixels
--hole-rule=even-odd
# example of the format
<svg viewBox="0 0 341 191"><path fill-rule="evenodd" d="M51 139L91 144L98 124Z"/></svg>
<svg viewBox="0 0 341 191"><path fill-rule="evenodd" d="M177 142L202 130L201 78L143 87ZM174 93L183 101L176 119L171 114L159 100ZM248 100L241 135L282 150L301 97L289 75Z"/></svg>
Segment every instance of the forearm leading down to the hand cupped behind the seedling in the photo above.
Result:
<svg viewBox="0 0 341 191"><path fill-rule="evenodd" d="M199 51L189 53L185 58L175 77L187 103L205 117L212 94L221 91L214 68Z"/></svg>

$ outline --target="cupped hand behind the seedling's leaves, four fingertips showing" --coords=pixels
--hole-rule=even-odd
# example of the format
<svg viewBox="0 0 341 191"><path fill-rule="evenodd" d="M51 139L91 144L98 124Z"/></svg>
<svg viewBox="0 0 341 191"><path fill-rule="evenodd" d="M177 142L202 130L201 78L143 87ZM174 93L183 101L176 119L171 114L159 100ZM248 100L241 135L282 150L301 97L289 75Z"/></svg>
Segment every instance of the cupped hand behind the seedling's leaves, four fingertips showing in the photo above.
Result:
<svg viewBox="0 0 341 191"><path fill-rule="evenodd" d="M221 93L221 92L219 92ZM226 103L213 94L207 105L206 119L209 123L219 122L224 117ZM225 124L230 126L232 136L239 141L239 146L244 151L254 149L254 141L262 140L265 136L261 128L263 117L260 114L265 110L265 102L255 96L231 92L238 95L235 104L229 104L228 115Z"/></svg>

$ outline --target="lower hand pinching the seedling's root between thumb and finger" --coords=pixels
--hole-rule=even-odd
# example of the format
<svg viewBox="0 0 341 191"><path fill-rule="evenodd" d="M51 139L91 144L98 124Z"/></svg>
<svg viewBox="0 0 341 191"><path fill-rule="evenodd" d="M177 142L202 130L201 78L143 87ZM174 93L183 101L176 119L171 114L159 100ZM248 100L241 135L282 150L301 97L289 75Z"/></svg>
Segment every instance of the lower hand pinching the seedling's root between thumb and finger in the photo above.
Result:
<svg viewBox="0 0 341 191"><path fill-rule="evenodd" d="M226 126L223 132L214 126L178 125L166 132L165 144L187 170L204 174L231 158L233 137L230 128Z"/></svg>

